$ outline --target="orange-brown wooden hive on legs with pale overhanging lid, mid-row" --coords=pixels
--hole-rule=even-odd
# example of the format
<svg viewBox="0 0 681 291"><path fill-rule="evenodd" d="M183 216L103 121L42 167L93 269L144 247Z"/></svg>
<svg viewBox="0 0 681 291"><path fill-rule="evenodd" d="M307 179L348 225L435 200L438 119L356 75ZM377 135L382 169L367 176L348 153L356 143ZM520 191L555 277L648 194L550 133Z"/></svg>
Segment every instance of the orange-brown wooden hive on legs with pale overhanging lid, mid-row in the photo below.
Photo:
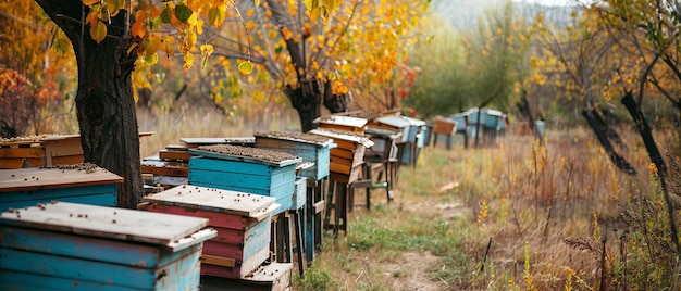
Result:
<svg viewBox="0 0 681 291"><path fill-rule="evenodd" d="M347 184L357 180L364 161L364 151L374 144L373 141L350 131L312 129L309 132L331 138L337 144L331 150L331 179Z"/></svg>

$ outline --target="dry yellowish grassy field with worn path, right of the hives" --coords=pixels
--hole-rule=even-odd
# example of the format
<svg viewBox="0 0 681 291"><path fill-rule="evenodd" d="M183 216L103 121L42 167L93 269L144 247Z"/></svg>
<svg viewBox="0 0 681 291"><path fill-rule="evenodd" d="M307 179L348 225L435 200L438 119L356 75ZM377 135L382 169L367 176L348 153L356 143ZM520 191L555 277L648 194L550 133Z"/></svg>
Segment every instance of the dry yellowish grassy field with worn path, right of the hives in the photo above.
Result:
<svg viewBox="0 0 681 291"><path fill-rule="evenodd" d="M598 290L602 279L608 290L670 287L642 279L664 273L646 269L657 264L647 250L668 238L623 235L637 232L621 213L646 198L661 205L645 149L633 132L626 140L637 176L617 170L584 129L549 131L545 147L507 135L485 149L428 149L416 168L400 168L395 201L374 190L371 211L349 214L347 235L326 237L296 289ZM654 214L644 224L664 225Z"/></svg>

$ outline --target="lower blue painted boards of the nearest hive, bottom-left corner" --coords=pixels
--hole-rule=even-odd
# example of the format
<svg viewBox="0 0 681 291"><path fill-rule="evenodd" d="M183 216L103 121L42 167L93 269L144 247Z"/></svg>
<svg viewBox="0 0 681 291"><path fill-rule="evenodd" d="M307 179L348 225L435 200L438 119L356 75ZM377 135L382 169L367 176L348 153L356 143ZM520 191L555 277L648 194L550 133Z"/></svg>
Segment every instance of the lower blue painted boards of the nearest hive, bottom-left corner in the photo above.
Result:
<svg viewBox="0 0 681 291"><path fill-rule="evenodd" d="M4 274L4 270L10 270L147 290L196 289L199 284L198 267L201 246L202 244L195 244L174 253L178 258L159 268L132 267L88 258L2 248L0 249L0 257L2 257L0 273ZM183 276L185 273L195 275ZM182 280L177 281L177 278ZM58 286L40 286L40 281L35 283L38 287L60 289ZM184 286L185 283L187 286Z"/></svg>

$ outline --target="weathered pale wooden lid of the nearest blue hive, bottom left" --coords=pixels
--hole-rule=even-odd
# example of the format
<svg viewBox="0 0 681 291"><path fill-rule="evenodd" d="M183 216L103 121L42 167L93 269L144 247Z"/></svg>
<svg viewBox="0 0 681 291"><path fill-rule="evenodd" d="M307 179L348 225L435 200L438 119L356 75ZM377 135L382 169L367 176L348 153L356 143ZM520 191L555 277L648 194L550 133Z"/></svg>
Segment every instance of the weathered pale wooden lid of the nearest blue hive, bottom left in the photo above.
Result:
<svg viewBox="0 0 681 291"><path fill-rule="evenodd" d="M0 225L166 245L208 224L206 218L67 202L0 213Z"/></svg>

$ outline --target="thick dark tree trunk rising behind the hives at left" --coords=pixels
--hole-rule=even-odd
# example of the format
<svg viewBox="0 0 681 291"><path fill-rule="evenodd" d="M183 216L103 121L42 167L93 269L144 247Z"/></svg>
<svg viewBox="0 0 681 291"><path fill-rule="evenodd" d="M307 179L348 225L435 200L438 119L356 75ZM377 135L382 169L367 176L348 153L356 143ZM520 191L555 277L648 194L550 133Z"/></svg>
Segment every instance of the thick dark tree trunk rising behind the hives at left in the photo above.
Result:
<svg viewBox="0 0 681 291"><path fill-rule="evenodd" d="M139 136L131 74L136 54L127 54L132 35L127 12L108 25L101 43L89 36L81 0L36 0L71 40L78 66L76 109L85 162L96 164L124 181L119 206L133 208L143 195Z"/></svg>

